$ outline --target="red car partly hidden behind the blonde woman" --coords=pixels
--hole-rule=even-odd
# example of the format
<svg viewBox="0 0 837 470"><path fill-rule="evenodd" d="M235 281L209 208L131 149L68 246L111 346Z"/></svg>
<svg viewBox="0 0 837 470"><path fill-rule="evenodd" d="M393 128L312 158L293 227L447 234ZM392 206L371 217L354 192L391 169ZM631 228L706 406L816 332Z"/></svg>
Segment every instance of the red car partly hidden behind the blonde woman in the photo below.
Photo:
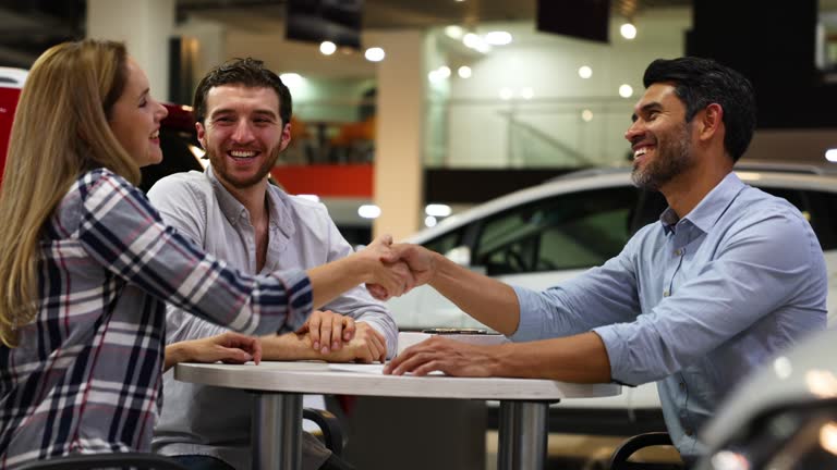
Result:
<svg viewBox="0 0 837 470"><path fill-rule="evenodd" d="M21 88L27 71L23 69L0 67L0 183L5 168L5 154L9 150L9 135ZM195 120L192 109L185 106L165 103L169 115L160 127L160 148L162 162L143 169L140 188L148 190L157 180L171 173L198 170L203 171L199 157L203 150L197 143Z"/></svg>

